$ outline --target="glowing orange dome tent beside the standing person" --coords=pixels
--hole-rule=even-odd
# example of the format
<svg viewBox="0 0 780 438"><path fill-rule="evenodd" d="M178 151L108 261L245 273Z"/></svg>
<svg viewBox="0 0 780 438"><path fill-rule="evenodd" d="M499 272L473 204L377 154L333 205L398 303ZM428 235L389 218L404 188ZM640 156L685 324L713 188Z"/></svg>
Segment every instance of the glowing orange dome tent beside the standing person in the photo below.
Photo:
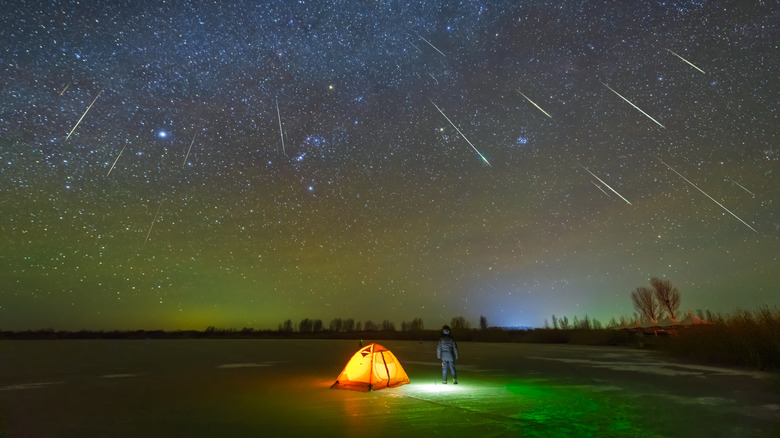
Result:
<svg viewBox="0 0 780 438"><path fill-rule="evenodd" d="M387 348L369 344L355 353L339 374L332 388L371 391L395 388L409 383L401 363Z"/></svg>

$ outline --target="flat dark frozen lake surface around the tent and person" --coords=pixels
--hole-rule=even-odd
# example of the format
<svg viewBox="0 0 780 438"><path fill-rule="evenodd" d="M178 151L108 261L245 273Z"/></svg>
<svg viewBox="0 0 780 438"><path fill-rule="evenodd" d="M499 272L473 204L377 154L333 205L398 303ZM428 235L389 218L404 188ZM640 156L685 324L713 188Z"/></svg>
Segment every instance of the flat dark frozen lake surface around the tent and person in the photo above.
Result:
<svg viewBox="0 0 780 438"><path fill-rule="evenodd" d="M772 437L769 374L610 347L380 341L411 383L331 390L357 341L1 341L0 437Z"/></svg>

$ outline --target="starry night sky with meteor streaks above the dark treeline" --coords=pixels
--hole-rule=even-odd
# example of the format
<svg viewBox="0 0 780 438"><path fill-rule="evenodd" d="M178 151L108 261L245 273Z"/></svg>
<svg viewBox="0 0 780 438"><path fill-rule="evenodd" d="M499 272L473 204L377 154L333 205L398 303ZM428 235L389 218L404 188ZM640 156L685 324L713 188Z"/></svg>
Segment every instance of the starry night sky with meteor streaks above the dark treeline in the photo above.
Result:
<svg viewBox="0 0 780 438"><path fill-rule="evenodd" d="M780 304L778 1L0 18L0 329Z"/></svg>

